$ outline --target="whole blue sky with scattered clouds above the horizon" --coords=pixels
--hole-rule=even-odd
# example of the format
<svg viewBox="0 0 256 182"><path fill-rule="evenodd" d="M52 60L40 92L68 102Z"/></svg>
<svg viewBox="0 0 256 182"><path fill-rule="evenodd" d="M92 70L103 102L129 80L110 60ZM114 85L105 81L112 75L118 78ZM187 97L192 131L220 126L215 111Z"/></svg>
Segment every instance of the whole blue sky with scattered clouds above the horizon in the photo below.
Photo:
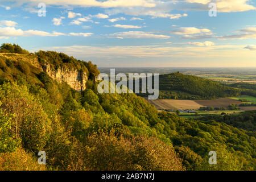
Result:
<svg viewBox="0 0 256 182"><path fill-rule="evenodd" d="M98 67L256 67L256 0L0 0L0 44Z"/></svg>

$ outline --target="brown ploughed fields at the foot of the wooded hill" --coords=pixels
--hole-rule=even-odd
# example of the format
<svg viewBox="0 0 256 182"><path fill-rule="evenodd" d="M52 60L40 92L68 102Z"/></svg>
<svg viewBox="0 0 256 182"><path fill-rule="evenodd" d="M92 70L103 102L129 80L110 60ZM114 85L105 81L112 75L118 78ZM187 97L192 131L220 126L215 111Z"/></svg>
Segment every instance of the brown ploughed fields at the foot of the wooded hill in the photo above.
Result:
<svg viewBox="0 0 256 182"><path fill-rule="evenodd" d="M230 104L243 104L239 100L233 98L219 98L216 100L147 100L154 105L158 110L177 110L177 109L192 109L198 110L200 107L226 107ZM255 106L240 107L241 110L256 110Z"/></svg>

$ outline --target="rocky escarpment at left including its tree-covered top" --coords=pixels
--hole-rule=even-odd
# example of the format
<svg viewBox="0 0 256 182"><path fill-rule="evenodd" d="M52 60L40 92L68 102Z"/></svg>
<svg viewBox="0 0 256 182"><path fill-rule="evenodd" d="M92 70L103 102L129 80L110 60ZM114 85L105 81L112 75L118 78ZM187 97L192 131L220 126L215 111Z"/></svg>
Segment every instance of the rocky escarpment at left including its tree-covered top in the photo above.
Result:
<svg viewBox="0 0 256 182"><path fill-rule="evenodd" d="M86 89L86 82L97 82L99 73L96 65L53 51L39 51L38 53L18 54L0 53L3 60L11 60L16 65L24 63L31 65L38 73L45 72L57 82L67 82L71 88L81 92Z"/></svg>

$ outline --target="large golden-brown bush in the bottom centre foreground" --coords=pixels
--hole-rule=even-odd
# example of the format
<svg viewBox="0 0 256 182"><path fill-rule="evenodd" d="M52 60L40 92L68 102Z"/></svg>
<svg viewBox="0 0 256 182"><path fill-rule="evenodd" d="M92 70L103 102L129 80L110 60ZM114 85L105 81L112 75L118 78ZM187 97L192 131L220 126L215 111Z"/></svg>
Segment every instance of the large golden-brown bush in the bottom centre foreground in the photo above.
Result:
<svg viewBox="0 0 256 182"><path fill-rule="evenodd" d="M154 137L126 139L100 133L88 137L92 170L184 170L171 146Z"/></svg>

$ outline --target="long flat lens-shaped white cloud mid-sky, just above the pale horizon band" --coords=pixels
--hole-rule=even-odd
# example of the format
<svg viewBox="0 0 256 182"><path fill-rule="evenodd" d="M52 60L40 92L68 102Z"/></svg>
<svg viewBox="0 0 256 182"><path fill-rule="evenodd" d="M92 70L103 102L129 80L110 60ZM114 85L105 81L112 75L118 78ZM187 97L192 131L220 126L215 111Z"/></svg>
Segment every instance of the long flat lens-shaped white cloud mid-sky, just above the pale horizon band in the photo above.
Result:
<svg viewBox="0 0 256 182"><path fill-rule="evenodd" d="M106 35L109 38L118 38L118 39L125 39L125 38L131 38L131 39L168 39L171 38L167 35L159 35L159 34L152 34L151 32L143 32L143 31L129 31L129 32L117 32L114 34L108 34Z"/></svg>

